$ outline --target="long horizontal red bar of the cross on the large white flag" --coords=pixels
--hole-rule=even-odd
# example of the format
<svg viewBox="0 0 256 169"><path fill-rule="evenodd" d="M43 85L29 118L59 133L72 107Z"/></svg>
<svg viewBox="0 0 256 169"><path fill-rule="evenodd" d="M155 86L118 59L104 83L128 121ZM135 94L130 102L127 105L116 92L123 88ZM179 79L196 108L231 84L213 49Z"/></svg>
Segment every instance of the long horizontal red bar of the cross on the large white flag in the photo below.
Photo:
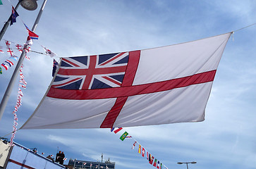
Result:
<svg viewBox="0 0 256 169"><path fill-rule="evenodd" d="M56 99L109 99L121 96L134 96L139 94L149 94L162 92L166 90L187 87L193 84L212 82L216 70L205 73L198 73L187 77L181 77L173 80L154 82L149 84L140 84L128 87L113 87L107 89L87 89L87 90L68 90L51 87L47 96Z"/></svg>

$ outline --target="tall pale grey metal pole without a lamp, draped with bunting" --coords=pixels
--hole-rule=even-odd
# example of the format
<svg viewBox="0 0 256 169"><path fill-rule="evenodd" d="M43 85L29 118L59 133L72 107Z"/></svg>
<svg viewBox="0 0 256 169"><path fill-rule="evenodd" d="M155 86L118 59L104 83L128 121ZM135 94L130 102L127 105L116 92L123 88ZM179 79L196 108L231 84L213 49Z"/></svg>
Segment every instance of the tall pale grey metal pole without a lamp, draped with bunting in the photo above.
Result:
<svg viewBox="0 0 256 169"><path fill-rule="evenodd" d="M47 3L47 0L44 0L44 3L42 4L41 9L40 9L40 11L37 15L37 19L35 20L35 23L32 27L32 32L35 32L35 29L37 28L37 25L38 25L39 20L41 18L42 12L44 11L44 6L45 6L46 3ZM26 48L28 46L24 46L24 47ZM6 108L8 99L11 96L11 91L13 89L13 85L16 82L16 78L17 78L19 70L20 70L20 65L22 65L23 60L25 58L25 55L26 55L26 53L25 53L25 50L23 49L23 53L20 55L20 58L19 58L18 63L16 65L16 68L13 72L13 75L11 76L11 80L10 80L8 86L7 86L6 92L4 93L4 97L3 97L2 101L1 101L1 104L0 104L0 120L1 120L2 115L4 114L4 110Z"/></svg>

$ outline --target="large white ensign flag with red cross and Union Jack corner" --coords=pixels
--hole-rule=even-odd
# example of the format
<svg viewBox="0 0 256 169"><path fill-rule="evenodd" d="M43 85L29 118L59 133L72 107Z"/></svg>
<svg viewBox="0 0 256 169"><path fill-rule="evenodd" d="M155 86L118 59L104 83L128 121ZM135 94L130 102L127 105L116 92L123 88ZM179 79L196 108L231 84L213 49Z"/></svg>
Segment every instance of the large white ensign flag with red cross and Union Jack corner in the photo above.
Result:
<svg viewBox="0 0 256 169"><path fill-rule="evenodd" d="M49 89L20 129L203 121L231 33L154 49L61 58Z"/></svg>

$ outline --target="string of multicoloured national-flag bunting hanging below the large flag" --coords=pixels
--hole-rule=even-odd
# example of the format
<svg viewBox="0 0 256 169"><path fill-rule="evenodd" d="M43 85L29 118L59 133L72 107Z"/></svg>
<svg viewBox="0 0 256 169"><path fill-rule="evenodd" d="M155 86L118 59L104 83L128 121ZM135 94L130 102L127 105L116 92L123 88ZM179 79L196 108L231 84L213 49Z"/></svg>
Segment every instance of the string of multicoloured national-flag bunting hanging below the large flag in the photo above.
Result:
<svg viewBox="0 0 256 169"><path fill-rule="evenodd" d="M115 127L111 128L111 132L114 132L115 134L120 132L123 128L122 127L118 127L115 129ZM149 151L147 151L147 149L145 149L144 146L142 146L137 140L135 140L132 136L128 136L128 132L123 132L123 134L121 135L120 139L123 141L124 139L133 139L134 143L132 146L132 149L135 148L135 146L138 144L138 153L141 154L141 156L143 158L147 158L147 160L149 161L149 163L151 165L153 165L155 168L157 169L163 169L166 168L166 165L164 165L163 163L161 163L159 160L157 160L157 158L155 158Z"/></svg>

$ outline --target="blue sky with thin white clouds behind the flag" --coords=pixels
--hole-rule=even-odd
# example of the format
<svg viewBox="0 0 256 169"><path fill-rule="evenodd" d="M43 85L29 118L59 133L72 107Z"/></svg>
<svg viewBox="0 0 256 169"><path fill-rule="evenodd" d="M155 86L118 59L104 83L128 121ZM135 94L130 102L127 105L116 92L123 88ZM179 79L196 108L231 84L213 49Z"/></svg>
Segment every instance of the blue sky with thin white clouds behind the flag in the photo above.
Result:
<svg viewBox="0 0 256 169"><path fill-rule="evenodd" d="M0 23L11 13L2 0ZM17 1L10 0L13 6ZM42 0L38 1L39 6ZM149 49L220 35L256 23L256 1L66 1L48 0L35 31L39 35L32 50L44 52L40 44L62 56L85 56L118 51ZM17 23L8 27L3 39L23 44L28 36L21 19L32 27L39 11L18 8ZM256 161L256 25L235 32L221 58L212 92L201 123L127 127L125 130L168 168L185 168L178 161L197 161L189 168L255 168ZM0 42L4 46L4 41ZM17 52L18 54L18 52ZM17 113L19 127L25 123L51 82L52 58L29 54L23 73L23 105ZM8 58L0 54L0 62ZM14 67L0 75L0 98ZM0 136L12 130L12 111L17 84L0 121ZM8 135L8 138L11 136ZM39 152L56 154L57 146L67 158L100 161L110 158L116 169L154 168L133 140L121 142L107 129L19 130L15 141ZM137 146L138 147L138 146Z"/></svg>

